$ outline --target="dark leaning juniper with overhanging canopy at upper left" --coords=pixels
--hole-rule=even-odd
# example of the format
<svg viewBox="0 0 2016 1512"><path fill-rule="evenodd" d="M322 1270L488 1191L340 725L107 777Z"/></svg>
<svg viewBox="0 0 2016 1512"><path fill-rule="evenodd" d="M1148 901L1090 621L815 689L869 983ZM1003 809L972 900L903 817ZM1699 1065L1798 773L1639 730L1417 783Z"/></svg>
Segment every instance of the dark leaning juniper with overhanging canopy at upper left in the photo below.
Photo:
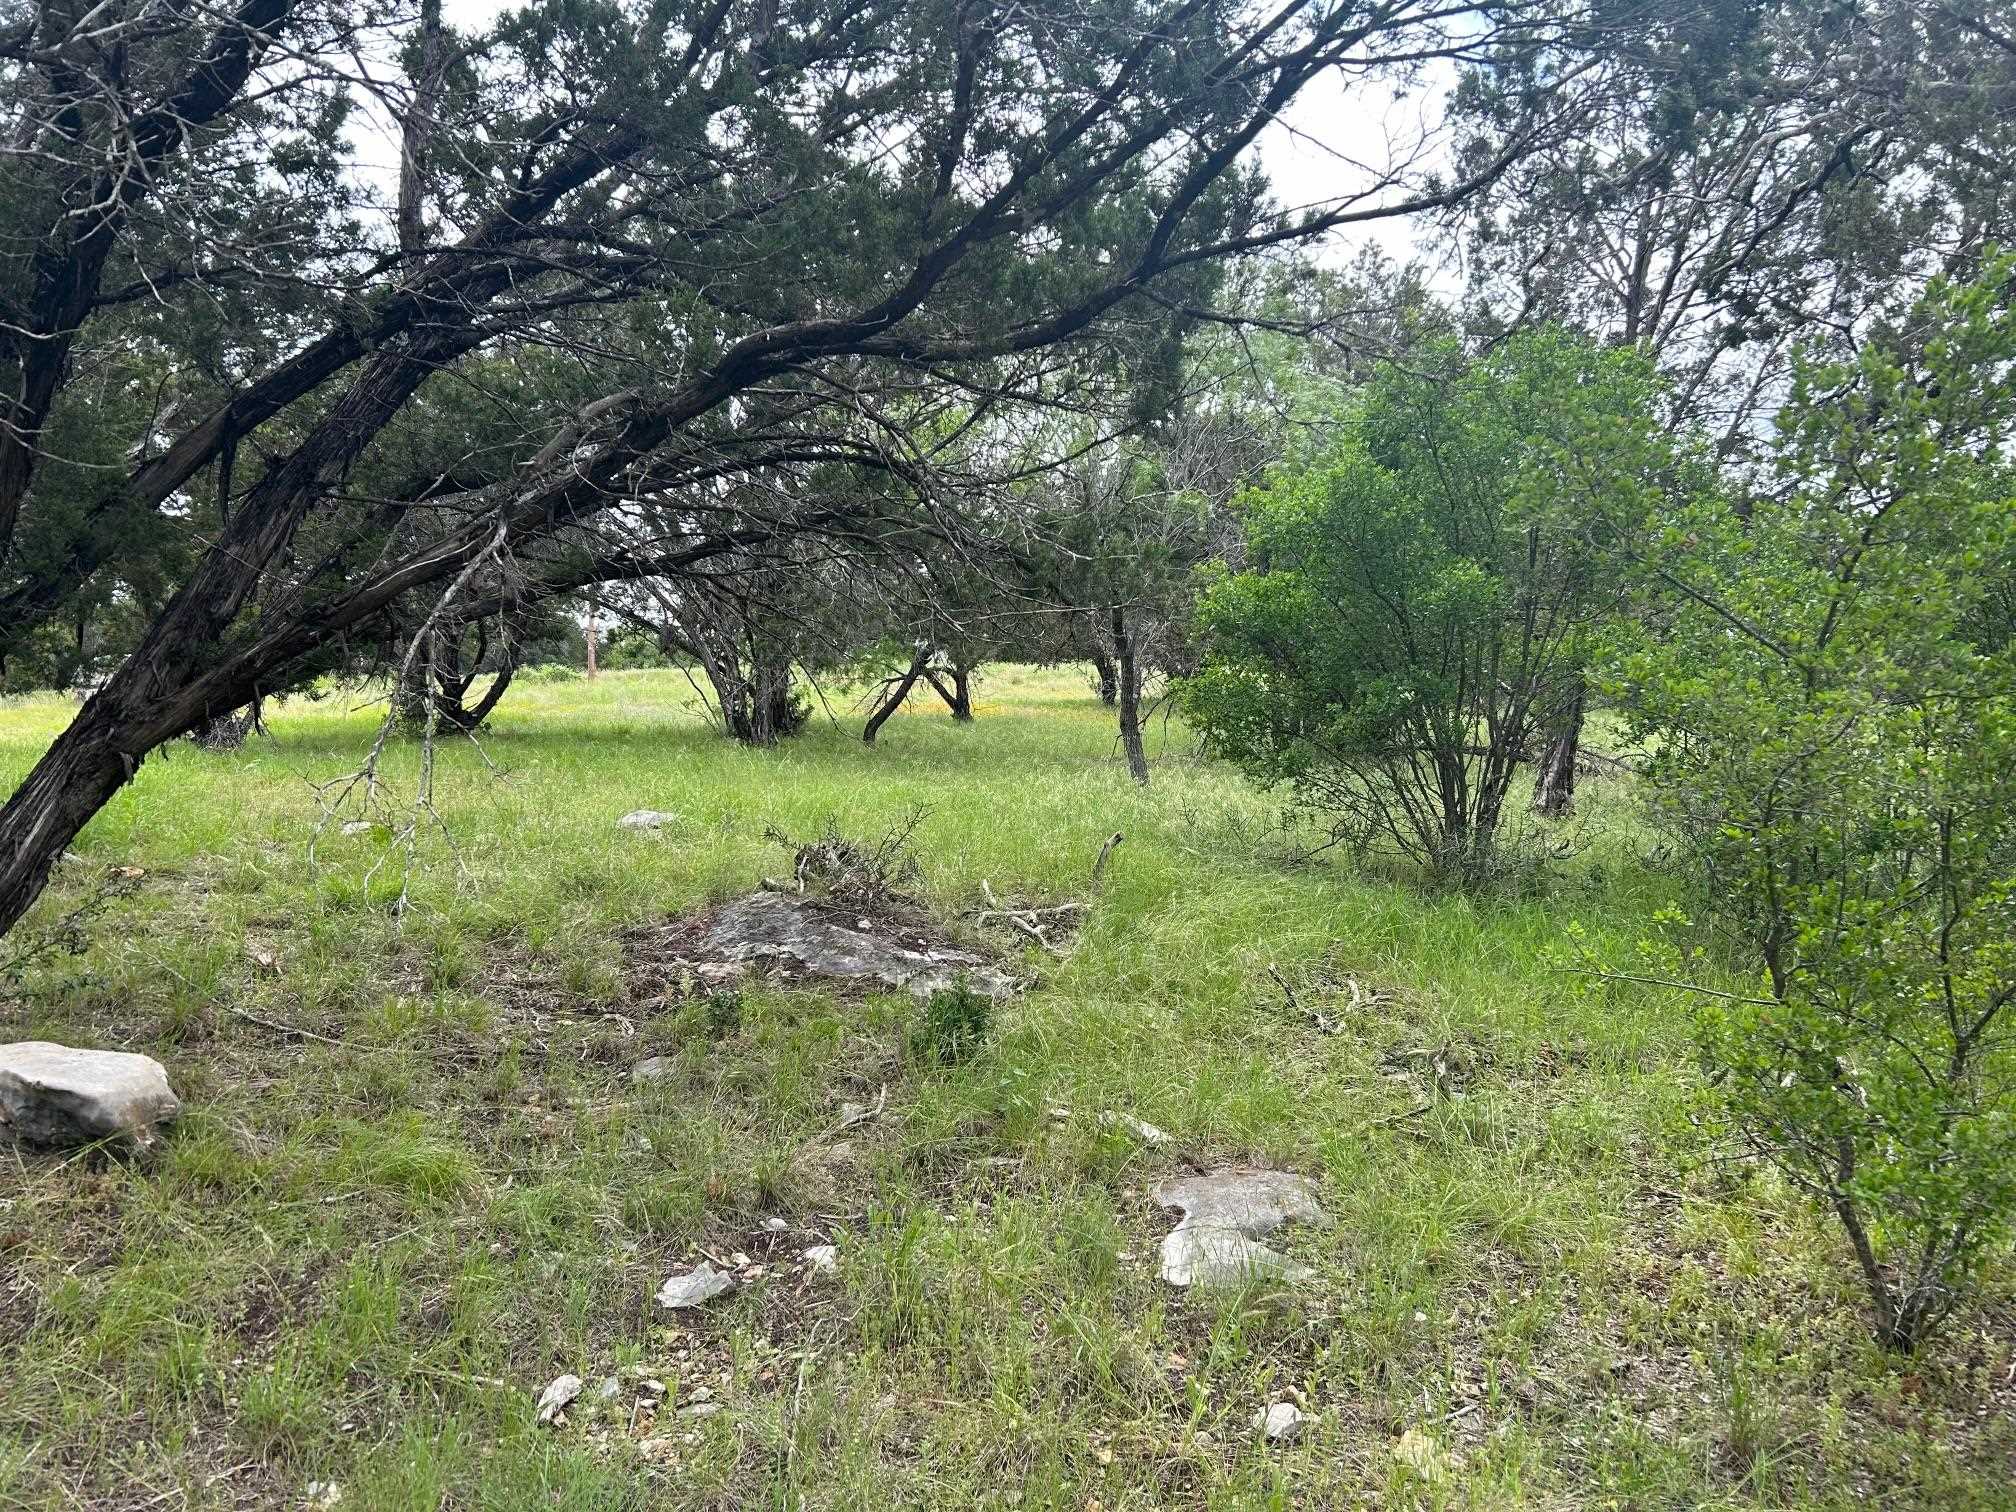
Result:
<svg viewBox="0 0 2016 1512"><path fill-rule="evenodd" d="M655 571L742 548L766 526L714 482L913 474L889 417L919 383L998 405L1040 381L1032 355L1167 347L1220 260L1452 204L1556 127L1536 97L1464 179L1290 218L1240 163L1318 73L1597 36L1538 0L661 0L534 6L480 38L423 6L367 46L377 14L113 0L0 22L26 143L0 183L20 228L0 651L135 522L192 552L0 812L0 925L149 750L403 595L508 601L526 558L595 581L605 552L571 536L637 502L687 510ZM403 79L337 67L385 54ZM405 133L381 234L298 119L361 87ZM498 361L538 381L490 393ZM71 472L46 439L91 375L157 399L129 403L115 466ZM482 433L425 456L407 421L458 389Z"/></svg>

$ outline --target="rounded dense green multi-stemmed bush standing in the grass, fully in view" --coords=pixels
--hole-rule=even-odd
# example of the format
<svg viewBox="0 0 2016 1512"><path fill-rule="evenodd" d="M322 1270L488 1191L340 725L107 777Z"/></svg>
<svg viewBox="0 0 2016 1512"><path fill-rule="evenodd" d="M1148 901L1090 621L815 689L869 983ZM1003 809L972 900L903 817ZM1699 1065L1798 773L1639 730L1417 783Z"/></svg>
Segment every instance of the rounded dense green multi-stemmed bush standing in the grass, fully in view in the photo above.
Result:
<svg viewBox="0 0 2016 1512"><path fill-rule="evenodd" d="M1577 506L1669 466L1643 363L1560 333L1383 367L1331 448L1246 500L1183 708L1359 849L1476 879L1609 603Z"/></svg>

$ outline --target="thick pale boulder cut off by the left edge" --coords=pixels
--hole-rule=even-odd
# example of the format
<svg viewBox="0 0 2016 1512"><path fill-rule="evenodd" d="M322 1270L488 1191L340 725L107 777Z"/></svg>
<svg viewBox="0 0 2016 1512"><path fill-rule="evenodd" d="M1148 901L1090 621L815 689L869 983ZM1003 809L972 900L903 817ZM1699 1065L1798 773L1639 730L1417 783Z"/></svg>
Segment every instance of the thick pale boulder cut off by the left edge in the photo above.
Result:
<svg viewBox="0 0 2016 1512"><path fill-rule="evenodd" d="M0 1129L30 1145L149 1143L181 1111L159 1060L48 1040L0 1044Z"/></svg>

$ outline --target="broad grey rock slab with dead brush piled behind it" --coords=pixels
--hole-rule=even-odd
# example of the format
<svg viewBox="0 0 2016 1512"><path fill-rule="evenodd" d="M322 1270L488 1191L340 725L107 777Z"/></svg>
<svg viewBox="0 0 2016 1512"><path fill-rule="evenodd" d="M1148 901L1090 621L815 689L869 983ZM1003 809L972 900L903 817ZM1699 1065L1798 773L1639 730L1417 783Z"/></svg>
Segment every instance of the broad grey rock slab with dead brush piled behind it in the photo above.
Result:
<svg viewBox="0 0 2016 1512"><path fill-rule="evenodd" d="M877 933L873 919L790 893L724 903L698 927L689 950L724 962L766 962L788 976L897 988L913 998L929 998L960 976L990 998L1014 992L1014 980L984 956L943 946L911 950Z"/></svg>

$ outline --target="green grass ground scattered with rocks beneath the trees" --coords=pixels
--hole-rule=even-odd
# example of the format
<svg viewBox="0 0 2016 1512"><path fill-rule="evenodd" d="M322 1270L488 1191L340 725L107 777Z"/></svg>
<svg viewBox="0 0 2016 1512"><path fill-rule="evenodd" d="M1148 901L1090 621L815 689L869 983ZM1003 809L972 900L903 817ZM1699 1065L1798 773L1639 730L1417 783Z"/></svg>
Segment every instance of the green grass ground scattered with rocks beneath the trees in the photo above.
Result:
<svg viewBox="0 0 2016 1512"><path fill-rule="evenodd" d="M1685 1002L1558 970L1570 921L1629 962L1667 901L1615 782L1542 895L1425 897L1292 865L1179 730L1133 788L1075 673L978 691L748 752L677 673L518 687L439 752L397 915L385 829L308 855L375 710L147 762L26 927L143 875L0 1038L153 1054L185 1113L137 1157L0 1155L0 1506L2016 1506L2008 1268L1883 1359L1839 1236L1693 1133ZM71 710L0 708L0 782ZM385 770L407 800L415 748ZM984 881L1093 905L1062 960L990 931L1038 980L980 1054L911 1054L907 998L633 970L631 931L788 871L766 827L913 804L948 929ZM615 829L643 806L679 823ZM1312 1284L1157 1280L1149 1189L1216 1163L1318 1181ZM736 1294L653 1304L738 1254ZM589 1389L540 1425L560 1373ZM1308 1429L1262 1445L1282 1397Z"/></svg>

